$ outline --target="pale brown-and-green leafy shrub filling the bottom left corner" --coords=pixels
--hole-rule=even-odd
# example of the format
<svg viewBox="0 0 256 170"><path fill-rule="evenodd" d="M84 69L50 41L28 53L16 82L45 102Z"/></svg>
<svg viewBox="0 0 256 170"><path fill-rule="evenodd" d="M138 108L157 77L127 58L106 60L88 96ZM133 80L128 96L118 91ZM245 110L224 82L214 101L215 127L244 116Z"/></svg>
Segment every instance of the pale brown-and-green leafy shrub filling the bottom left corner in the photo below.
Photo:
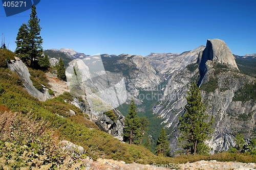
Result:
<svg viewBox="0 0 256 170"><path fill-rule="evenodd" d="M56 133L46 130L48 124L35 122L31 116L17 112L0 115L0 169L81 169L78 152L63 150Z"/></svg>

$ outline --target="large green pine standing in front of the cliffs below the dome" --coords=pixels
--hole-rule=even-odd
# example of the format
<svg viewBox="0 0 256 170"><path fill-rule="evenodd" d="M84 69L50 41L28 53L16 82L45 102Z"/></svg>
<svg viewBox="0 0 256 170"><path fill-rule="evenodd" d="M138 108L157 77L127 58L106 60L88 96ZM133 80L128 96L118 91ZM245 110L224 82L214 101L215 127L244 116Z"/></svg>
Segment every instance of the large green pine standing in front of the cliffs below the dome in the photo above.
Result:
<svg viewBox="0 0 256 170"><path fill-rule="evenodd" d="M187 151L187 154L206 154L209 147L205 144L205 140L209 139L209 135L213 132L211 129L214 123L214 117L211 116L210 121L206 123L209 115L205 113L205 106L202 103L202 97L196 83L191 83L186 96L187 104L185 105L185 113L179 117L179 144L181 148Z"/></svg>

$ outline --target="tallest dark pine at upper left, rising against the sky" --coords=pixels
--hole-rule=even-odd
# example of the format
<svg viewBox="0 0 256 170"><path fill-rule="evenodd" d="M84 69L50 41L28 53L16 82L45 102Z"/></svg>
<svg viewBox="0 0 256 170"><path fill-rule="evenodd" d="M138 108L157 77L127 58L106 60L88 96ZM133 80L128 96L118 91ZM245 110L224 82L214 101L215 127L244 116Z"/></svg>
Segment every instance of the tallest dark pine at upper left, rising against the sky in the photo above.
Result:
<svg viewBox="0 0 256 170"><path fill-rule="evenodd" d="M28 21L29 27L29 44L30 44L30 59L31 67L35 65L36 59L42 55L42 38L40 36L41 27L39 26L40 19L37 18L35 5L31 7L30 19Z"/></svg>

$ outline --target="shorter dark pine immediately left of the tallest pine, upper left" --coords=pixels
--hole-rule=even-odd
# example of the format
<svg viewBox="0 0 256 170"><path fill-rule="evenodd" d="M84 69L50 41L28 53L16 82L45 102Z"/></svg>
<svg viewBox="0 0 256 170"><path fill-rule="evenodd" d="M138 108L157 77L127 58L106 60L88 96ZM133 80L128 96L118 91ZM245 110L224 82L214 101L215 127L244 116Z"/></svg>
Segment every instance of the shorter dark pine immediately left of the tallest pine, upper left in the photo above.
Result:
<svg viewBox="0 0 256 170"><path fill-rule="evenodd" d="M31 47L30 47L30 39L29 39L29 29L26 23L23 23L18 30L18 34L16 37L16 50L15 53L17 57L22 59L24 62L27 61L30 57Z"/></svg>

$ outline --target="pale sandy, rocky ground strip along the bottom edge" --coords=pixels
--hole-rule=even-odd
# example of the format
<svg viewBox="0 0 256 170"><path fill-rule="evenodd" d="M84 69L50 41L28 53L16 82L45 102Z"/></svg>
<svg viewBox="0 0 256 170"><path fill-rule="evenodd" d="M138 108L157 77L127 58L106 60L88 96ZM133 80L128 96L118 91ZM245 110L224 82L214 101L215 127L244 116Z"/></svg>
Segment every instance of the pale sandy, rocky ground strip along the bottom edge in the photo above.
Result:
<svg viewBox="0 0 256 170"><path fill-rule="evenodd" d="M181 170L254 170L256 169L256 163L240 163L240 162L218 162L216 160L211 161L197 161L193 163L185 163L185 164L156 164L153 163L151 165L142 165L138 163L125 163L123 161L115 161L112 159L98 159L97 161L93 161L89 158L84 159L86 162L86 169L108 169L108 170L116 170L116 169L124 169L124 170L163 170L163 169L181 169Z"/></svg>

